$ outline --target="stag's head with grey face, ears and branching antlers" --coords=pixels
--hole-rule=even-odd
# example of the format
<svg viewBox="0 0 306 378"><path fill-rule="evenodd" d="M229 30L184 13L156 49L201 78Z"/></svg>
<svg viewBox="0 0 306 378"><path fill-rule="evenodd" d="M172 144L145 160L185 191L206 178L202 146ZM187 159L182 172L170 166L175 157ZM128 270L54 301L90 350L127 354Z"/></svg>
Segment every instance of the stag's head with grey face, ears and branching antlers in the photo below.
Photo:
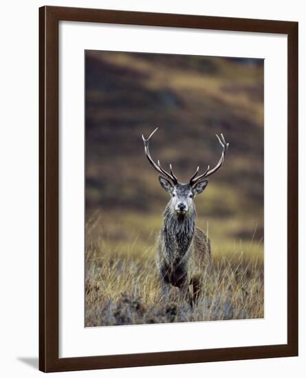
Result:
<svg viewBox="0 0 306 378"><path fill-rule="evenodd" d="M148 158L150 164L155 168L155 170L157 170L158 173L160 173L158 179L160 180L162 188L164 188L164 190L166 190L166 192L168 192L171 196L169 207L171 208L171 210L173 210L173 212L175 212L179 216L184 216L185 214L188 214L188 212L193 210L194 197L197 194L203 192L203 190L206 188L208 184L207 177L217 172L217 170L223 164L229 143L226 143L223 134L221 134L221 137L219 137L216 134L217 139L222 146L222 153L219 162L217 162L216 166L212 169L210 169L210 166L208 166L205 172L201 175L197 175L199 173L198 166L195 170L195 173L190 178L189 183L182 184L177 180L177 177L174 175L171 164L170 172L168 173L166 170L164 170L164 168L162 168L160 160L157 160L156 164L150 155L149 142L155 131L157 131L157 129L155 129L153 133L151 133L148 139L146 139L144 135L142 135L142 140L144 141L144 153L146 154L146 157Z"/></svg>

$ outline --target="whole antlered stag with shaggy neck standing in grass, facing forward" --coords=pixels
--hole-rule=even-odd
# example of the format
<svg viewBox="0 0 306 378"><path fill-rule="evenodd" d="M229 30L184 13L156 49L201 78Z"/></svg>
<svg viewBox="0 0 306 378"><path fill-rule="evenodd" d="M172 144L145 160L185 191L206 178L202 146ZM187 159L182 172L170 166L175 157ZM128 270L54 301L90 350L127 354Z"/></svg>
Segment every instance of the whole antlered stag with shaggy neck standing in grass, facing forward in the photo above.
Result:
<svg viewBox="0 0 306 378"><path fill-rule="evenodd" d="M171 287L177 287L182 300L187 300L193 307L197 304L200 295L201 276L212 260L208 236L203 230L195 227L197 213L194 199L208 185L207 178L223 165L229 143L226 143L222 133L221 137L216 134L222 146L219 162L212 169L208 166L201 175L198 175L199 166L197 166L189 182L183 184L174 175L172 164L169 165L170 172L167 172L162 168L160 160L155 163L150 155L149 142L157 129L147 139L142 135L144 153L153 168L160 173L158 176L160 185L170 194L157 236L155 259L157 272L163 298L168 298Z"/></svg>

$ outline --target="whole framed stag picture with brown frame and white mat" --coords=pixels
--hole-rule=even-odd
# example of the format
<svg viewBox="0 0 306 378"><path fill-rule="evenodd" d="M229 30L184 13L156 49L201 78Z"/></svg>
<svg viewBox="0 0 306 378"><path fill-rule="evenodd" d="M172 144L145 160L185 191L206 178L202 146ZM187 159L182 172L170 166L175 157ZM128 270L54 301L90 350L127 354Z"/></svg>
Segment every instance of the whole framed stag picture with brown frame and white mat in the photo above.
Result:
<svg viewBox="0 0 306 378"><path fill-rule="evenodd" d="M298 23L39 21L40 370L298 355Z"/></svg>

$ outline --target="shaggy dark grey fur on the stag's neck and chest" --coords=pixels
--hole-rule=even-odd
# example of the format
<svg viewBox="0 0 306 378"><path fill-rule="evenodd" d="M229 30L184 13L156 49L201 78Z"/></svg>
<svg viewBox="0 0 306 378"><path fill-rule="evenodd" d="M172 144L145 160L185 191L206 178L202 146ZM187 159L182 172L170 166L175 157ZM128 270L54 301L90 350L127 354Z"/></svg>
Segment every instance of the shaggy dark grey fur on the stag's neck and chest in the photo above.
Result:
<svg viewBox="0 0 306 378"><path fill-rule="evenodd" d="M195 233L195 216L195 209L189 210L184 215L173 212L169 205L164 210L162 242L164 252L172 263L178 263L187 256Z"/></svg>

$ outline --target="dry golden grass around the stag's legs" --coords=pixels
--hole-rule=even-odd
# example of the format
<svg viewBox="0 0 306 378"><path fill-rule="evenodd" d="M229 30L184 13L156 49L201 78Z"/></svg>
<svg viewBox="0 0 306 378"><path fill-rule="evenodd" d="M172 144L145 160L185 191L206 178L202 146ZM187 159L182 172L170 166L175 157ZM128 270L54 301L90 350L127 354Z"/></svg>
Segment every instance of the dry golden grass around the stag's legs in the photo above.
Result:
<svg viewBox="0 0 306 378"><path fill-rule="evenodd" d="M136 244L137 240L122 252L111 249L104 239L89 241L85 326L263 318L262 255L243 251L239 243L224 255L216 249L192 309L179 300L175 287L169 298L162 298L154 247L140 254L133 251Z"/></svg>

